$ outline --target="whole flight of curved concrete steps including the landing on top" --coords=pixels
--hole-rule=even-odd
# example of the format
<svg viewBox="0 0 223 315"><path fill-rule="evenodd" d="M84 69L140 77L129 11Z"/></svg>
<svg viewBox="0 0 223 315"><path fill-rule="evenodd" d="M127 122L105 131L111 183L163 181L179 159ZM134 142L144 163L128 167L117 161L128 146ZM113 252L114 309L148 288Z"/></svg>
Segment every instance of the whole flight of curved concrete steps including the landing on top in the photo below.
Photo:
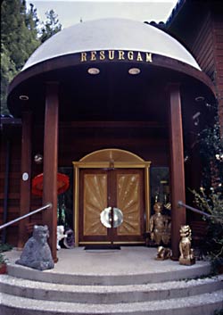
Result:
<svg viewBox="0 0 223 315"><path fill-rule="evenodd" d="M13 251L8 275L0 275L0 314L212 315L223 308L223 276L208 278L208 261L182 266L155 261L155 254L144 247L75 248L60 251L54 269L38 271L16 265Z"/></svg>

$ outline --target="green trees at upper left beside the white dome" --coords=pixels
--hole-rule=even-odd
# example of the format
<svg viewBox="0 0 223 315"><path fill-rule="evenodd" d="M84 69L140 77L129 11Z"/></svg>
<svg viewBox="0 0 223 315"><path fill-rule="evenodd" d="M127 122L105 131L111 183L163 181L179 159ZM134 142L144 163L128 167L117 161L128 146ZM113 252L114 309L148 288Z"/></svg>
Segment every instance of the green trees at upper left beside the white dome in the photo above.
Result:
<svg viewBox="0 0 223 315"><path fill-rule="evenodd" d="M26 0L4 0L1 4L1 113L9 114L7 87L21 71L37 46L62 29L54 10L45 13L46 22L37 18L37 9ZM42 29L41 29L41 25ZM39 30L40 29L40 30Z"/></svg>

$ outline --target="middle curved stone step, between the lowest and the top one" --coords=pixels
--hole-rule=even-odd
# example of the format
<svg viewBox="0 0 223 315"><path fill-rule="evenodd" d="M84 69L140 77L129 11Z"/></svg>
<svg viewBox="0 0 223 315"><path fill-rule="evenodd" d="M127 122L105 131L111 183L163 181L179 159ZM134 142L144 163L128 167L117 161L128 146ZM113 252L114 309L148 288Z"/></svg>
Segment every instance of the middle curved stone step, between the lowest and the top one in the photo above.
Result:
<svg viewBox="0 0 223 315"><path fill-rule="evenodd" d="M223 275L144 285L75 286L0 277L0 292L29 299L67 303L138 303L183 298L223 289Z"/></svg>

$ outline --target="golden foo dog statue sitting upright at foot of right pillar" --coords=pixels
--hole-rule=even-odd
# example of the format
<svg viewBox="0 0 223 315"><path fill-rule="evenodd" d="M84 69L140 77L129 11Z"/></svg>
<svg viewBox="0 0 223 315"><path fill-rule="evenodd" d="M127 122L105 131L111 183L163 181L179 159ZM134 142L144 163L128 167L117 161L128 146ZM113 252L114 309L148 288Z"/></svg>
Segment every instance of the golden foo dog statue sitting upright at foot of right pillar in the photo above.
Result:
<svg viewBox="0 0 223 315"><path fill-rule="evenodd" d="M181 226L179 230L181 240L179 242L179 263L181 265L193 265L195 263L194 250L191 248L191 228L188 225Z"/></svg>

